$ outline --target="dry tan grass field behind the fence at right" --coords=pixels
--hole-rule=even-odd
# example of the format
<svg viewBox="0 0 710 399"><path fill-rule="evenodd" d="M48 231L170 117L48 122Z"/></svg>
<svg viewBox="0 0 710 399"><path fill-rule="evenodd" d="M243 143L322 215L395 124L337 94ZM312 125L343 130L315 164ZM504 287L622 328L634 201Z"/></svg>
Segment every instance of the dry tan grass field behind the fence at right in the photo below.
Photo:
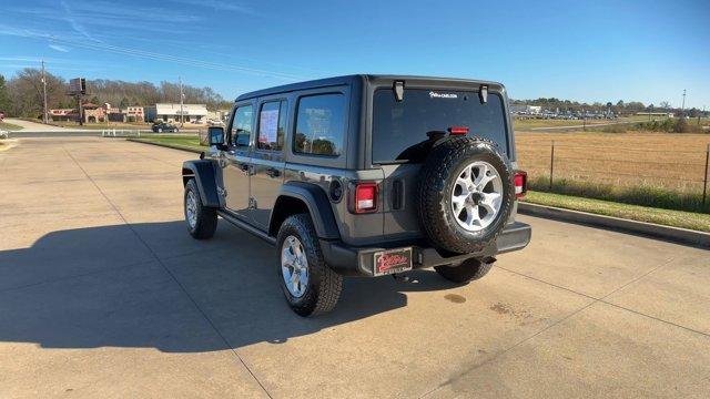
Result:
<svg viewBox="0 0 710 399"><path fill-rule="evenodd" d="M613 186L700 193L710 134L516 132L519 167L530 180L555 178Z"/></svg>

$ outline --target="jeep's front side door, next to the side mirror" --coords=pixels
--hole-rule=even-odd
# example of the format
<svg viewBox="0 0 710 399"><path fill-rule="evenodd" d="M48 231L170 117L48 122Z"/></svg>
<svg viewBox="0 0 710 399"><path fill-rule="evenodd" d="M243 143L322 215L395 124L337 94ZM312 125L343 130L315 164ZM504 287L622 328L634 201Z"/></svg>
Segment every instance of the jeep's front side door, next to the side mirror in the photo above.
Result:
<svg viewBox="0 0 710 399"><path fill-rule="evenodd" d="M250 146L253 126L254 105L251 102L237 104L230 125L227 150L220 154L226 208L242 217L248 217Z"/></svg>

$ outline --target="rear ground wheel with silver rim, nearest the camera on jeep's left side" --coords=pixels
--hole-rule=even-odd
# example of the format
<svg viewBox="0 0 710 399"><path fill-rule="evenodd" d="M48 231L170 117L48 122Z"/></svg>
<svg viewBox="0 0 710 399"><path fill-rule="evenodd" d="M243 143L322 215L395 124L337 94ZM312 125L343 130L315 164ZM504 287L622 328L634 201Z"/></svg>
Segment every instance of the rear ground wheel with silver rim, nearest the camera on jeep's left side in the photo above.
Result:
<svg viewBox="0 0 710 399"><path fill-rule="evenodd" d="M341 297L343 277L325 264L311 216L287 217L276 243L278 280L293 311L308 317L333 310Z"/></svg>

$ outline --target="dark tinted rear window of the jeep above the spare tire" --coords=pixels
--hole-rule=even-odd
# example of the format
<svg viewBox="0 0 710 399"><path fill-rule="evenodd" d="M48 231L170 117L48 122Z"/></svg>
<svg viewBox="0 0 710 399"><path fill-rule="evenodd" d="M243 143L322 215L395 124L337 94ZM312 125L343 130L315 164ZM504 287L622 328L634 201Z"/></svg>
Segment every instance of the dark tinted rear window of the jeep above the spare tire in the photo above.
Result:
<svg viewBox="0 0 710 399"><path fill-rule="evenodd" d="M375 91L373 162L422 162L434 141L453 126L468 127L468 136L489 139L508 150L506 114L499 94L481 104L473 91L407 89L397 102L392 89Z"/></svg>

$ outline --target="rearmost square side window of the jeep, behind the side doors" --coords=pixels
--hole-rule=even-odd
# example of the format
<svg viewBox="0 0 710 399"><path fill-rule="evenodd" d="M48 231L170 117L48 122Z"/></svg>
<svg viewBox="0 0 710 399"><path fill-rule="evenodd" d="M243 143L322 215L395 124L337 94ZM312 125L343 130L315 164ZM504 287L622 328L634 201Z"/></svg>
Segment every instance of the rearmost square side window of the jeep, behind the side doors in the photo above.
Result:
<svg viewBox="0 0 710 399"><path fill-rule="evenodd" d="M345 96L318 94L298 100L294 152L341 155L345 135Z"/></svg>

